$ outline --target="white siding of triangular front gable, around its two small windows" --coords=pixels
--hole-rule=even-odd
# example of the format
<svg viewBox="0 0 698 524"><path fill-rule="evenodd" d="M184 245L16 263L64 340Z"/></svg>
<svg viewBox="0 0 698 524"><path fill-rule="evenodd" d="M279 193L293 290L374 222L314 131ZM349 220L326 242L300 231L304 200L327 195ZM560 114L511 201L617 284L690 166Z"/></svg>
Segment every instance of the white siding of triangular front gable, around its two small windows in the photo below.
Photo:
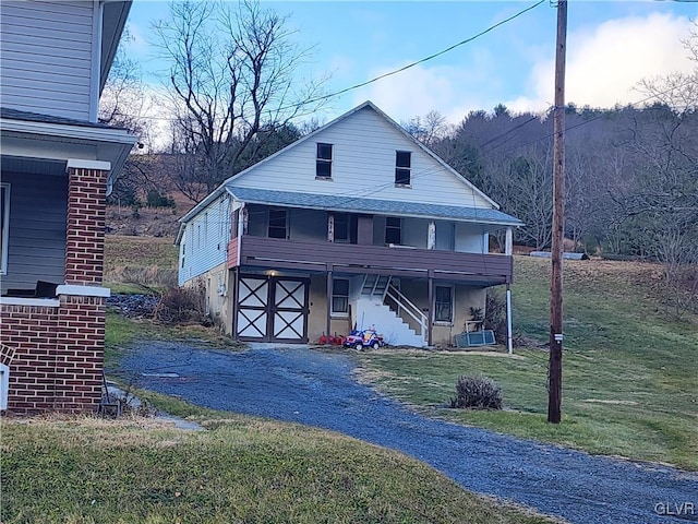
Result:
<svg viewBox="0 0 698 524"><path fill-rule="evenodd" d="M333 144L332 180L315 180L317 142ZM395 152L411 151L411 188L395 187ZM414 142L365 107L234 179L234 186L492 207Z"/></svg>

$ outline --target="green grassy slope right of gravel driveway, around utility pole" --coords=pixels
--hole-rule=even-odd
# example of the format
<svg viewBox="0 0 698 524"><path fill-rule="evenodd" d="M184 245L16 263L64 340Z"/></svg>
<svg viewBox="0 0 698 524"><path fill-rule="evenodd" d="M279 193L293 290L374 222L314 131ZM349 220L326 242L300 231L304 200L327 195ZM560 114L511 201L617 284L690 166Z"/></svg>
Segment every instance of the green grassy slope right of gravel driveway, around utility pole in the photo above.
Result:
<svg viewBox="0 0 698 524"><path fill-rule="evenodd" d="M515 331L547 338L550 261L517 258ZM648 281L650 278L650 281ZM385 391L432 413L496 431L698 469L698 319L667 320L651 265L565 261L563 422L545 421L547 353L514 357L411 352L360 358ZM442 408L460 374L503 388L507 410Z"/></svg>

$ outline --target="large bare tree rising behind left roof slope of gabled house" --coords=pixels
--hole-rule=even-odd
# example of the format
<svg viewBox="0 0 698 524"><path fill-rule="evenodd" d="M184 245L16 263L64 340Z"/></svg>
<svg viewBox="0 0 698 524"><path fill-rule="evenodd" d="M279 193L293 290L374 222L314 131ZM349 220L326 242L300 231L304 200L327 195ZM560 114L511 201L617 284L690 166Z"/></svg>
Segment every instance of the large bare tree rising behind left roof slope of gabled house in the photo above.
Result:
<svg viewBox="0 0 698 524"><path fill-rule="evenodd" d="M192 184L209 192L237 172L262 129L269 138L323 104L322 81L294 78L310 50L294 45L286 22L253 0L186 0L156 24L177 112L173 147L195 160L177 177L190 198L200 198Z"/></svg>

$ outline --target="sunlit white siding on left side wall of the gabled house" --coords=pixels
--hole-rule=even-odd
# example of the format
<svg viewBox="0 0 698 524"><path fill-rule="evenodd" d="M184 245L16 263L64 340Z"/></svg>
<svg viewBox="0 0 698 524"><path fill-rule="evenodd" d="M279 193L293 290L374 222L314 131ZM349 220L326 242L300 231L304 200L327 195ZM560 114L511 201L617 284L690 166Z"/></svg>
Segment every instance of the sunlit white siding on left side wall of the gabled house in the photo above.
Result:
<svg viewBox="0 0 698 524"><path fill-rule="evenodd" d="M179 248L179 284L182 285L225 263L229 240L230 201L224 195L208 204L186 224Z"/></svg>

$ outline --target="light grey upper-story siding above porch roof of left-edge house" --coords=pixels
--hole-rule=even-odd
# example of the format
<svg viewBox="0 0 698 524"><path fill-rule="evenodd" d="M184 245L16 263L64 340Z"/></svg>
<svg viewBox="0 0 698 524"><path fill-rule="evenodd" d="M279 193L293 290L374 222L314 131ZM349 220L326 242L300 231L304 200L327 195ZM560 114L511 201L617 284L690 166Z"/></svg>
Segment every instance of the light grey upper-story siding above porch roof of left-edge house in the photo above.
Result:
<svg viewBox="0 0 698 524"><path fill-rule="evenodd" d="M2 1L3 107L89 120L92 1Z"/></svg>

